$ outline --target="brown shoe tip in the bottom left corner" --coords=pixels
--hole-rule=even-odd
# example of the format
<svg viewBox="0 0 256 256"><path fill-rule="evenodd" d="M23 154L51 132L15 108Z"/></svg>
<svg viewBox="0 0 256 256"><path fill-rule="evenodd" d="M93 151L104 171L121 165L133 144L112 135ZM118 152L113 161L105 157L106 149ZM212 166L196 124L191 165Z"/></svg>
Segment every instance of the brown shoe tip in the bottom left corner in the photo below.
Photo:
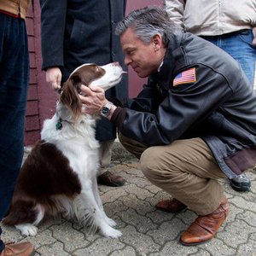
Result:
<svg viewBox="0 0 256 256"><path fill-rule="evenodd" d="M0 253L0 256L32 256L35 254L35 249L31 242L23 241L19 243L6 243L5 247Z"/></svg>

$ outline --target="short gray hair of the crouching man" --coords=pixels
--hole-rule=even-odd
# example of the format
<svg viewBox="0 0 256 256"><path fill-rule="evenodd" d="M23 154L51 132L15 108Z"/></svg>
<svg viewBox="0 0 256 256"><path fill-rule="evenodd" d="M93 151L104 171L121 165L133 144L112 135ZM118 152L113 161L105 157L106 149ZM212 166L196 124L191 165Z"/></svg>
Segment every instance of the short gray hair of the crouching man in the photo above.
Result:
<svg viewBox="0 0 256 256"><path fill-rule="evenodd" d="M132 28L144 44L149 44L151 38L159 33L165 45L177 29L166 10L156 6L132 11L124 20L119 21L115 33L120 36L128 27Z"/></svg>

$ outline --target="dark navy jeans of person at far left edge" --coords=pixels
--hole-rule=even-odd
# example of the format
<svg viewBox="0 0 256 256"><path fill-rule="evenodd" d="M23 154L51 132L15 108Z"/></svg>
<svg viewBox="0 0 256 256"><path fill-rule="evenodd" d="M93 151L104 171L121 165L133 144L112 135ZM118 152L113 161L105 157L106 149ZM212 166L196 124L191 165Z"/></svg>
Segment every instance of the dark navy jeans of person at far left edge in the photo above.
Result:
<svg viewBox="0 0 256 256"><path fill-rule="evenodd" d="M23 157L29 57L25 20L0 13L0 24L1 220L9 209ZM3 248L0 239L0 253Z"/></svg>

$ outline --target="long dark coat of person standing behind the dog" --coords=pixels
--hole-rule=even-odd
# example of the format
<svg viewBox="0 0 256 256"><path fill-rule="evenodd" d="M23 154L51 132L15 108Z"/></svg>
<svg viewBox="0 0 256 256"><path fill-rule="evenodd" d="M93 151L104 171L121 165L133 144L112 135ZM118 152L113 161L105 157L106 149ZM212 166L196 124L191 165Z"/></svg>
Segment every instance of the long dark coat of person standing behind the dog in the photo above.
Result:
<svg viewBox="0 0 256 256"><path fill-rule="evenodd" d="M125 0L40 0L43 69L60 67L65 82L76 67L84 63L104 65L119 61L124 55L115 35L116 23L125 15ZM126 97L127 77L106 95ZM116 131L108 119L97 125L96 138L115 138Z"/></svg>

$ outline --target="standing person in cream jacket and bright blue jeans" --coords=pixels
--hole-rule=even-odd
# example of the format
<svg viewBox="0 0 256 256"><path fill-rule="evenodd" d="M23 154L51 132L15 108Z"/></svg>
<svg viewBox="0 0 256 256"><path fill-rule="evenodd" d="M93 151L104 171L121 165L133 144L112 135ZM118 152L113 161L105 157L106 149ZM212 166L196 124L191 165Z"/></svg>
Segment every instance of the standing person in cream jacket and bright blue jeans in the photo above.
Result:
<svg viewBox="0 0 256 256"><path fill-rule="evenodd" d="M170 19L185 32L216 44L238 61L252 88L256 63L255 0L166 0ZM230 179L236 191L247 191L246 174Z"/></svg>

